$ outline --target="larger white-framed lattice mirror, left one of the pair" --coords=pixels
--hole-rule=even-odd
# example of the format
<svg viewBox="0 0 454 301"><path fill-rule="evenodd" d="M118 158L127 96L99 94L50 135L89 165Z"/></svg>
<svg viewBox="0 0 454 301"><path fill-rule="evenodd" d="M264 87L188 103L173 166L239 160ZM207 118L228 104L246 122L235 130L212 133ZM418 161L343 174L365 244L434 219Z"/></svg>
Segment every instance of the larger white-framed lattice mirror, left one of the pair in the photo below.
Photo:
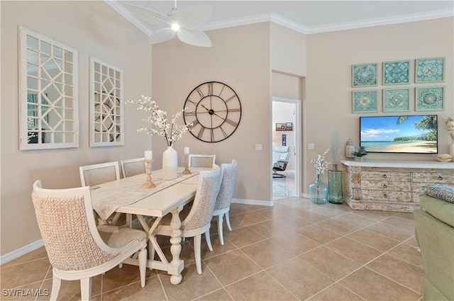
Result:
<svg viewBox="0 0 454 301"><path fill-rule="evenodd" d="M79 147L77 50L19 27L19 149Z"/></svg>

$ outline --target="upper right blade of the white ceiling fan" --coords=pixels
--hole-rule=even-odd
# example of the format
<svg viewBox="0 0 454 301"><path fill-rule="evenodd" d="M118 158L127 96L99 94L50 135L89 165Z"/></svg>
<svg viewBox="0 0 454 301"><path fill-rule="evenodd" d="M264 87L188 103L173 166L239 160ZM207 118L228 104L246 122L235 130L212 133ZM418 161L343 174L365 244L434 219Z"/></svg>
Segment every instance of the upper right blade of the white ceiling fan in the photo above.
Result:
<svg viewBox="0 0 454 301"><path fill-rule="evenodd" d="M198 30L208 22L211 11L213 11L213 8L209 5L194 5L174 9L169 16L182 28Z"/></svg>

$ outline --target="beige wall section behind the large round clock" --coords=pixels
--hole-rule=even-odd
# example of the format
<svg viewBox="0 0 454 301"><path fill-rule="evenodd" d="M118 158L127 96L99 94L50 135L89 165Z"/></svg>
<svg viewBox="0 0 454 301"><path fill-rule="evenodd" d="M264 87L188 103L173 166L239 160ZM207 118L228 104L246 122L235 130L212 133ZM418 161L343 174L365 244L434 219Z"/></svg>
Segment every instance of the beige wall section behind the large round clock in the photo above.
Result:
<svg viewBox="0 0 454 301"><path fill-rule="evenodd" d="M236 132L207 143L184 135L175 144L182 154L216 154L216 164L236 159L238 178L233 198L270 200L271 97L270 23L207 32L213 47L200 48L177 40L153 45L153 98L168 112L181 110L189 93L206 81L221 81L238 94L242 113ZM153 151L162 138L153 140ZM159 141L159 142L158 142ZM262 144L262 151L255 151ZM158 152L159 153L159 152ZM179 156L182 164L182 156Z"/></svg>

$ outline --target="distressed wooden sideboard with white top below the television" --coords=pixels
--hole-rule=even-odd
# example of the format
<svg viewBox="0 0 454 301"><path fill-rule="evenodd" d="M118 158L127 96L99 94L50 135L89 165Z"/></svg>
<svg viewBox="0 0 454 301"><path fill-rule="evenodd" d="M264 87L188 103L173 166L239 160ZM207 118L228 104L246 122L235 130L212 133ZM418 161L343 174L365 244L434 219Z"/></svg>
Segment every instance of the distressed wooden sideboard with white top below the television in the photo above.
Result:
<svg viewBox="0 0 454 301"><path fill-rule="evenodd" d="M343 164L343 201L355 210L413 212L422 186L454 186L454 163L438 161L347 161Z"/></svg>

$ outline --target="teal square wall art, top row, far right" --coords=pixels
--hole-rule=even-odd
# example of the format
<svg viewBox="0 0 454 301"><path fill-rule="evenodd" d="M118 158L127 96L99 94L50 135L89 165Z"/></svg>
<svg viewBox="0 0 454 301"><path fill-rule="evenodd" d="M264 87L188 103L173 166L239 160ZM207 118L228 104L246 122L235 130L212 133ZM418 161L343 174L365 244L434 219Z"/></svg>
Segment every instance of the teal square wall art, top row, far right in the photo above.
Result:
<svg viewBox="0 0 454 301"><path fill-rule="evenodd" d="M445 58L416 59L415 70L415 83L445 81Z"/></svg>

